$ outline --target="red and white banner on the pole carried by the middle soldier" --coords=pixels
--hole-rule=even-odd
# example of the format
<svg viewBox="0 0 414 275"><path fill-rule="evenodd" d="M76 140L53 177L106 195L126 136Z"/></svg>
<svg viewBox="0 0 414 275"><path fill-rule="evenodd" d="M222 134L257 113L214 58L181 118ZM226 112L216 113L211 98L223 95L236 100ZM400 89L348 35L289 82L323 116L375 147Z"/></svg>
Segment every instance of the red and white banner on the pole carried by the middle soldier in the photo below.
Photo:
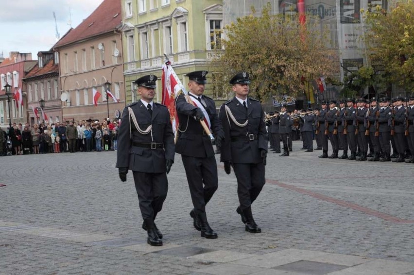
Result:
<svg viewBox="0 0 414 275"><path fill-rule="evenodd" d="M171 124L173 126L174 135L178 129L178 115L175 112L175 98L178 96L178 93L181 91L180 85L175 80L173 73L173 68L168 67L167 65L162 66L162 101L161 103L167 106L168 111L170 112Z"/></svg>

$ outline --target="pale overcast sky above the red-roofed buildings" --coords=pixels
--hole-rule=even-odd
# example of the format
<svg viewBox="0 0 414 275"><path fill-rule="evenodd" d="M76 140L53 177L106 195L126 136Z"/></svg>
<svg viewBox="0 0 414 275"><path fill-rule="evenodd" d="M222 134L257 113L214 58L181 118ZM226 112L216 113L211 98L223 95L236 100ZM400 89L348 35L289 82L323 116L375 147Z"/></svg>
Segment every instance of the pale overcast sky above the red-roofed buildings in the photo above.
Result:
<svg viewBox="0 0 414 275"><path fill-rule="evenodd" d="M38 51L51 49L57 41L53 12L62 37L70 28L69 21L76 28L102 1L0 0L0 54L31 52L36 60Z"/></svg>

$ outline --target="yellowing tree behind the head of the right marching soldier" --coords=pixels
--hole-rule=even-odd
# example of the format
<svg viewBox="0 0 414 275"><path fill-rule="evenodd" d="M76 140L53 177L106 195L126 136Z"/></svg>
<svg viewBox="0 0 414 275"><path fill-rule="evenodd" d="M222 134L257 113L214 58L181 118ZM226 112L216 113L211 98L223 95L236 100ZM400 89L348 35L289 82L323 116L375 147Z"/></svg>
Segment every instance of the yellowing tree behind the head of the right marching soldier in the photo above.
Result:
<svg viewBox="0 0 414 275"><path fill-rule="evenodd" d="M319 77L338 78L337 52L328 48L328 32L320 32L316 20L299 23L299 15L271 15L266 5L261 16L243 16L225 27L224 51L213 65L218 68L214 84L228 86L240 71L250 74L253 97L266 101L271 96L302 95L306 81Z"/></svg>

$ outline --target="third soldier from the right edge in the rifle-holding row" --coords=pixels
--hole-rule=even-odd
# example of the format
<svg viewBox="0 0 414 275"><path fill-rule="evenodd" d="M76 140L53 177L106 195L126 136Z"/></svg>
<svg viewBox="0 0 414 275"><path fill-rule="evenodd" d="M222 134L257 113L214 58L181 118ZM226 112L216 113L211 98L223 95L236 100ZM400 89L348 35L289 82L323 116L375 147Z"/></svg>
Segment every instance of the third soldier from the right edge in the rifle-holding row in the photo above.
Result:
<svg viewBox="0 0 414 275"><path fill-rule="evenodd" d="M382 158L380 162L390 162L391 158L391 109L389 107L389 99L382 97L380 100L380 114L378 116L379 132L380 132L380 151ZM382 105L382 106L381 106Z"/></svg>

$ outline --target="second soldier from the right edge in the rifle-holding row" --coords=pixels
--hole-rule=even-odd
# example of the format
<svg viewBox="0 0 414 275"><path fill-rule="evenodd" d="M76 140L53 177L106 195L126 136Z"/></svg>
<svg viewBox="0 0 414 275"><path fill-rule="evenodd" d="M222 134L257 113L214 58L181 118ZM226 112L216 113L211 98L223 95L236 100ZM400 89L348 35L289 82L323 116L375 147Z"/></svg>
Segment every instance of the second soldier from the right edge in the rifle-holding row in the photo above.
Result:
<svg viewBox="0 0 414 275"><path fill-rule="evenodd" d="M404 162L405 156L405 107L402 105L403 98L396 97L396 107L393 112L394 140L397 147L398 157L393 162Z"/></svg>

